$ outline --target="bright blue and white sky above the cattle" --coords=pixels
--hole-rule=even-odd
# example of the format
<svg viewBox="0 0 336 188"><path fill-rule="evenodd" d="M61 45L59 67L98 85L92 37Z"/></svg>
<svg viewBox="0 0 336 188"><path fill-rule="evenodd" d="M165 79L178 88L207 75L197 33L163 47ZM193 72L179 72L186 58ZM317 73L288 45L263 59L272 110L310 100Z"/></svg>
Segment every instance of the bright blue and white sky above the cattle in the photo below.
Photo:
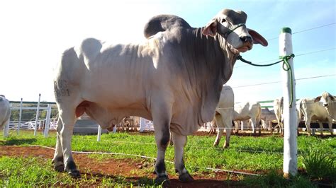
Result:
<svg viewBox="0 0 336 188"><path fill-rule="evenodd" d="M335 0L147 0L0 1L0 94L12 101L55 102L53 69L62 52L86 37L117 43L142 42L152 16L174 14L194 28L223 8L247 13L247 27L269 46L254 45L242 57L259 64L279 58L281 28L292 30L296 98L336 95ZM272 61L270 61L272 60ZM281 65L255 67L237 61L228 85L235 102L282 95ZM323 76L323 77L321 77ZM317 77L317 78L312 78ZM252 86L254 85L254 86Z"/></svg>

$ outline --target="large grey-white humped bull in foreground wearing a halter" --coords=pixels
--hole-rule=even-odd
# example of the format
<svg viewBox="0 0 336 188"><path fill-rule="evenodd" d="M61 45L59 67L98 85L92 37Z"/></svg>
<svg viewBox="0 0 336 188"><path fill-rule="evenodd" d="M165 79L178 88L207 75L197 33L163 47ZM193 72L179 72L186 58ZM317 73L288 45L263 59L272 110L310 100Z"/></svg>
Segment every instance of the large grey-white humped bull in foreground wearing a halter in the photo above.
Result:
<svg viewBox="0 0 336 188"><path fill-rule="evenodd" d="M193 180L183 160L186 136L213 119L239 53L253 43L267 46L264 37L246 27L246 19L242 11L224 9L205 27L192 28L178 16L160 15L145 25L142 44L108 45L89 38L65 50L54 79L60 113L55 170L80 176L71 138L81 114L103 129L133 115L153 121L155 181L168 180L164 155L170 131L179 180Z"/></svg>

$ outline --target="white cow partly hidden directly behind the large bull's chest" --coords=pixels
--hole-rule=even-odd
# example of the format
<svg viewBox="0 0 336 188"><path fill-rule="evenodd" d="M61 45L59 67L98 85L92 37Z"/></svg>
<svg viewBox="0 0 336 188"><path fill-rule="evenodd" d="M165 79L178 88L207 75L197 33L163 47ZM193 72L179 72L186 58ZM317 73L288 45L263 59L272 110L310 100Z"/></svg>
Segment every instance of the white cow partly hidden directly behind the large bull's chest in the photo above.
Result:
<svg viewBox="0 0 336 188"><path fill-rule="evenodd" d="M220 137L223 135L225 129L226 139L223 145L224 148L228 148L230 145L230 135L233 129L233 107L235 105L235 95L233 89L230 86L223 86L223 90L220 93L220 99L218 106L215 110L215 124L217 124L217 137L213 146L218 146Z"/></svg>

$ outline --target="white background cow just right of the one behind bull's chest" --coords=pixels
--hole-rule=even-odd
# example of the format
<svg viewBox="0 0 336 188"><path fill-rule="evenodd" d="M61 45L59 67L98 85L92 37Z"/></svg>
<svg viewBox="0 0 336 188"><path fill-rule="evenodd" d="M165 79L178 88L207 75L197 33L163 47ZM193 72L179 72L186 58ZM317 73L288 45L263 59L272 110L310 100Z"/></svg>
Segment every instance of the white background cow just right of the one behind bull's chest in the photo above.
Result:
<svg viewBox="0 0 336 188"><path fill-rule="evenodd" d="M261 134L260 117L262 114L262 106L258 102L243 102L235 105L233 111L233 120L246 121L251 119L251 127L253 134L257 129ZM236 133L238 133L238 127L236 127Z"/></svg>

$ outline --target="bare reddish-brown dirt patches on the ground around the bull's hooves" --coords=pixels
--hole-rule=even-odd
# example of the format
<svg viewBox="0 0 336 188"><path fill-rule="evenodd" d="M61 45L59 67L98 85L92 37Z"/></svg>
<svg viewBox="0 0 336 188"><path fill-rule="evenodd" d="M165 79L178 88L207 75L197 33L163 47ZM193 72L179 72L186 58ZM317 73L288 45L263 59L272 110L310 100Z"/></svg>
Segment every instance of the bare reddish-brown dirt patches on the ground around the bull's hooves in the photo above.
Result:
<svg viewBox="0 0 336 188"><path fill-rule="evenodd" d="M50 158L51 161L54 151L49 148L34 146L0 146L0 155ZM125 177L128 182L135 182L142 177L155 178L155 175L150 172L153 163L141 160L116 158L97 160L89 158L86 154L77 153L74 153L74 160L82 173L82 177L84 174L94 175L94 177L105 176L111 178L122 176ZM238 182L238 177L236 175L231 175L230 181L225 181L228 179L228 175L225 172L213 172L211 175L193 175L193 177L195 179L194 182L181 183L178 180L177 174L169 175L169 187L228 187L228 184L230 184L230 187L243 187Z"/></svg>

